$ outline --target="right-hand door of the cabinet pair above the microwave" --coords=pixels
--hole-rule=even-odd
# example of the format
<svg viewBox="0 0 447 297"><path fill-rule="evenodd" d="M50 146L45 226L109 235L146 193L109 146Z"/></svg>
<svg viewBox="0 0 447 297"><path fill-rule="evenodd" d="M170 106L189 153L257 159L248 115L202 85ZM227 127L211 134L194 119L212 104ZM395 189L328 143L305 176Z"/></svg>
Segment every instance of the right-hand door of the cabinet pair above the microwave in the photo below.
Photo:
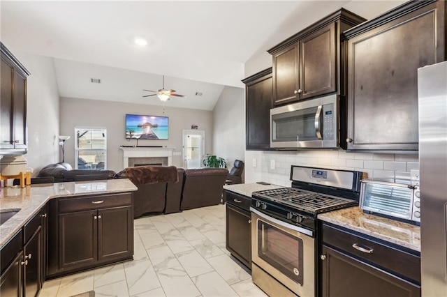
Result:
<svg viewBox="0 0 447 297"><path fill-rule="evenodd" d="M300 99L337 91L335 22L302 38L300 45Z"/></svg>

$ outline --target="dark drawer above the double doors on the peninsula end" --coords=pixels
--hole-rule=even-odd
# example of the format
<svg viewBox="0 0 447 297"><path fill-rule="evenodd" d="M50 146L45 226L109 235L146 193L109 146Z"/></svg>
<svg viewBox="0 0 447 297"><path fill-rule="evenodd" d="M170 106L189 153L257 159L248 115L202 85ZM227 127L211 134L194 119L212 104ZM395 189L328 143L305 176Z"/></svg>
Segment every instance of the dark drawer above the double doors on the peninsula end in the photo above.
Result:
<svg viewBox="0 0 447 297"><path fill-rule="evenodd" d="M132 205L130 193L59 199L59 213Z"/></svg>

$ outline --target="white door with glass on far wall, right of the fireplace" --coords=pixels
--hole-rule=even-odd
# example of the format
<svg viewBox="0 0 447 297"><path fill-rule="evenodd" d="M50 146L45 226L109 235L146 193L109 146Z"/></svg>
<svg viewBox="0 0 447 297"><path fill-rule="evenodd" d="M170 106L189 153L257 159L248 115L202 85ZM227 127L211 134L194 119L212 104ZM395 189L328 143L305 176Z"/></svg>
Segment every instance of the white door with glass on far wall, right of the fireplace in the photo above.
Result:
<svg viewBox="0 0 447 297"><path fill-rule="evenodd" d="M204 151L205 131L183 130L183 167L185 169L203 167Z"/></svg>

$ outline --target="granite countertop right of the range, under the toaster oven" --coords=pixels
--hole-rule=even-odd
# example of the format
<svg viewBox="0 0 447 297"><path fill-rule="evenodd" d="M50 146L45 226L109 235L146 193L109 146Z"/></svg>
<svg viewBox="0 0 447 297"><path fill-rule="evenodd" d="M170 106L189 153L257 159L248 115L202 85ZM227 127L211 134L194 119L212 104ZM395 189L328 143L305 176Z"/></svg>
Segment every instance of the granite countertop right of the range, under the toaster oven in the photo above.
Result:
<svg viewBox="0 0 447 297"><path fill-rule="evenodd" d="M363 213L358 206L322 213L318 219L420 252L420 227Z"/></svg>

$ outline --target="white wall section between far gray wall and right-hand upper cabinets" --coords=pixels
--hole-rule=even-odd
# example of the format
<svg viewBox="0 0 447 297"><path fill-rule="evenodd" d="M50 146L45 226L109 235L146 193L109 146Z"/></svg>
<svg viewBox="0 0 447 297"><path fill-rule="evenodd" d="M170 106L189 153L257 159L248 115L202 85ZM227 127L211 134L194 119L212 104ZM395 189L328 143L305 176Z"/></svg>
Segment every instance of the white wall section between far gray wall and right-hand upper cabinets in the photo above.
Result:
<svg viewBox="0 0 447 297"><path fill-rule="evenodd" d="M225 86L213 111L212 153L226 160L228 170L234 160L244 160L245 90Z"/></svg>

